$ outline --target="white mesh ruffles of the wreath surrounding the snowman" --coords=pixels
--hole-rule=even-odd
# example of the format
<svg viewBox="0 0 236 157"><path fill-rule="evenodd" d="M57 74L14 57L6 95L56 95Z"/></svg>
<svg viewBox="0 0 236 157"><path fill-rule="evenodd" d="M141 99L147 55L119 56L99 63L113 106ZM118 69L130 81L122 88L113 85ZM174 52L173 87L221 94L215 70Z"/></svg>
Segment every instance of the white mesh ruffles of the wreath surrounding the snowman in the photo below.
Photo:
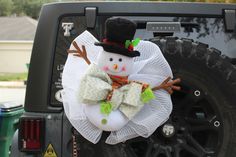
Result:
<svg viewBox="0 0 236 157"><path fill-rule="evenodd" d="M99 53L103 51L101 47L94 45L97 39L88 31L85 31L74 41L80 47L81 45L86 47L89 60L96 64ZM156 44L149 41L140 41L135 49L141 55L135 58L134 71L129 76L129 80L146 82L154 87L161 84L167 77L173 77L169 64ZM70 50L75 50L73 45L70 46ZM88 117L89 114L86 115L84 110L85 104L78 100L80 82L87 68L88 64L82 58L75 57L72 54L68 55L62 75L64 88L62 98L66 116L72 126L84 138L92 143L97 143L103 130L91 123L91 117ZM126 122L121 129L111 131L106 143L116 144L137 136L149 137L157 127L169 118L172 111L169 93L165 90L157 90L154 94L156 98L145 104L134 118ZM115 123L111 125L115 125Z"/></svg>

